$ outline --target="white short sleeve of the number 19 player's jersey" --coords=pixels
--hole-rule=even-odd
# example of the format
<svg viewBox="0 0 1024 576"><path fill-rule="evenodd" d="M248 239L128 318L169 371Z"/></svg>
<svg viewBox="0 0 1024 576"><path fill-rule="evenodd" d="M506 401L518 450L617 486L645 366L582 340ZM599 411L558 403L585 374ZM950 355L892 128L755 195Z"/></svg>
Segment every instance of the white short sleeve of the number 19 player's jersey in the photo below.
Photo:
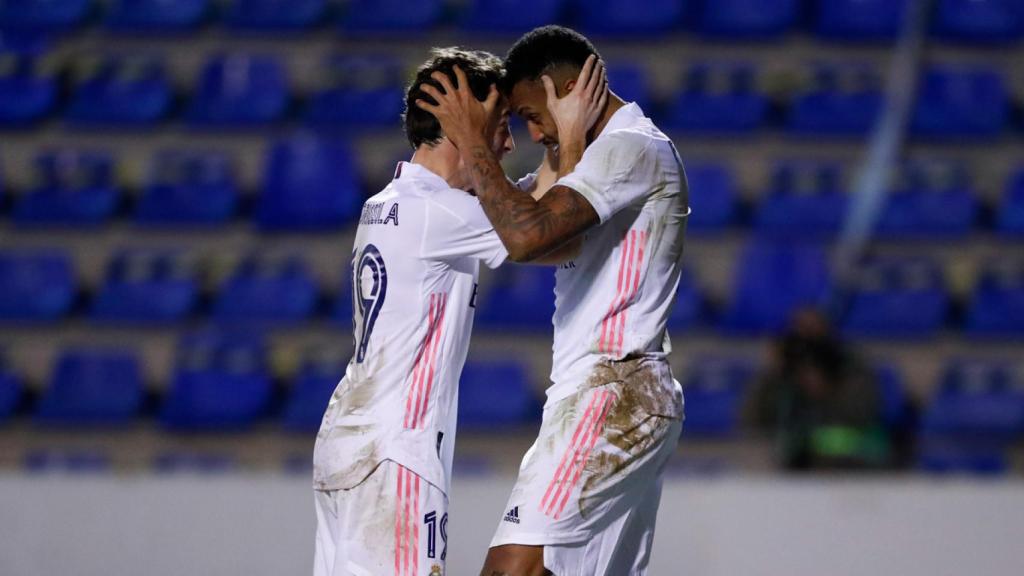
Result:
<svg viewBox="0 0 1024 576"><path fill-rule="evenodd" d="M498 268L508 257L508 250L476 198L459 194L466 198L445 204L431 203L423 239L424 257L443 261L474 258L487 268Z"/></svg>

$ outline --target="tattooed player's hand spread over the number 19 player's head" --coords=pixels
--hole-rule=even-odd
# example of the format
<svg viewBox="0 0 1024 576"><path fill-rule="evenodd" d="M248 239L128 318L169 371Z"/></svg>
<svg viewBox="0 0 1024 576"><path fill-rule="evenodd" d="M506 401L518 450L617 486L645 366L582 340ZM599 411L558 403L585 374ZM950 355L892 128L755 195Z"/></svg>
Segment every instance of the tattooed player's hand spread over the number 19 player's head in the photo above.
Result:
<svg viewBox="0 0 1024 576"><path fill-rule="evenodd" d="M453 72L457 84L453 84L452 79L442 72L430 75L440 84L440 89L430 84L420 84L420 89L437 104L418 99L416 106L434 115L444 135L456 147L476 137L483 138L484 142L489 141L501 116L498 88L492 84L486 99L481 102L473 95L466 73L458 66L453 67Z"/></svg>

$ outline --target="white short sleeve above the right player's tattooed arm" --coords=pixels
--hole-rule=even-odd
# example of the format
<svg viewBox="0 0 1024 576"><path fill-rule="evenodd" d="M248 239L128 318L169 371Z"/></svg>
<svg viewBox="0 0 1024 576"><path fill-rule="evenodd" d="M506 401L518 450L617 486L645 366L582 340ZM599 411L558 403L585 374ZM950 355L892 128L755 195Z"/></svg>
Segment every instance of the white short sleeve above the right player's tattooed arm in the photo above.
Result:
<svg viewBox="0 0 1024 576"><path fill-rule="evenodd" d="M650 196L656 188L657 171L654 141L623 130L594 140L575 169L555 186L580 193L604 223L626 206Z"/></svg>

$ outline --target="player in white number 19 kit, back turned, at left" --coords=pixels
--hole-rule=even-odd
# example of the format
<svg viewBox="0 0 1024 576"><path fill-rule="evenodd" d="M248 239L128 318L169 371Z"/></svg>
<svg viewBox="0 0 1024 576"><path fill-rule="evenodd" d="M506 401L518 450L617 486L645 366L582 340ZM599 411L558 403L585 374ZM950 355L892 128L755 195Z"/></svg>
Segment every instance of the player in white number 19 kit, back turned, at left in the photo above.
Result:
<svg viewBox="0 0 1024 576"><path fill-rule="evenodd" d="M456 66L474 100L502 74L492 54L434 50L407 91L412 161L362 206L352 254L355 349L313 454L316 576L444 570L457 384L479 262L495 268L508 256L459 152L437 120L412 105L429 98L421 84L439 86L432 75L447 80ZM587 106L567 113L593 123L603 100L578 101ZM513 149L508 106L498 98L488 106L496 115L485 148L500 159Z"/></svg>

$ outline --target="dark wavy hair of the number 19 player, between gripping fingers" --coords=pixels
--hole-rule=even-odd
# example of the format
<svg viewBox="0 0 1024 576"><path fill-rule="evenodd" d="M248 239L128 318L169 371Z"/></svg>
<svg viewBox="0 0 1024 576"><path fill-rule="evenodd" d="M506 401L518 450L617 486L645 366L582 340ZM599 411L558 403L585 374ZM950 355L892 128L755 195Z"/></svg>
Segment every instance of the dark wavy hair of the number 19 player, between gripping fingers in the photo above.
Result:
<svg viewBox="0 0 1024 576"><path fill-rule="evenodd" d="M406 124L406 137L414 150L422 143L436 145L441 139L441 125L434 115L416 106L416 100L437 104L433 97L420 89L420 84L429 84L444 91L440 83L430 77L438 71L446 74L452 84L458 84L453 71L456 65L466 73L469 89L480 101L487 99L492 84L501 83L502 60L490 52L464 50L457 46L430 50L430 59L417 69L416 77L406 88L406 112L402 114L402 121Z"/></svg>

